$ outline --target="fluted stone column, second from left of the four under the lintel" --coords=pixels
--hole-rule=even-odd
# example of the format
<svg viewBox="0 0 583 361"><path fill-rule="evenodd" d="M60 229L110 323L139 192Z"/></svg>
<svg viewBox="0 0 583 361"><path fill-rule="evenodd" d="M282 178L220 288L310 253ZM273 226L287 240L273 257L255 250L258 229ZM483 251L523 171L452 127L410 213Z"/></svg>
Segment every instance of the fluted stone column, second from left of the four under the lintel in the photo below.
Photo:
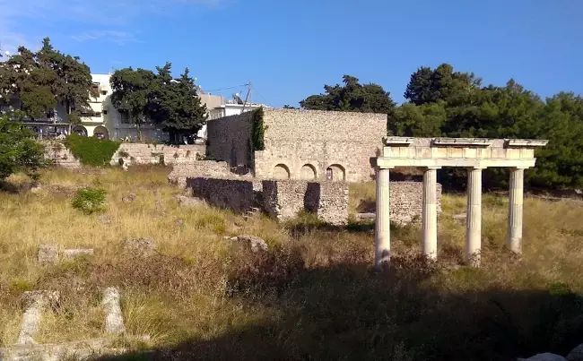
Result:
<svg viewBox="0 0 583 361"><path fill-rule="evenodd" d="M423 173L423 237L422 255L437 259L437 169L426 168Z"/></svg>

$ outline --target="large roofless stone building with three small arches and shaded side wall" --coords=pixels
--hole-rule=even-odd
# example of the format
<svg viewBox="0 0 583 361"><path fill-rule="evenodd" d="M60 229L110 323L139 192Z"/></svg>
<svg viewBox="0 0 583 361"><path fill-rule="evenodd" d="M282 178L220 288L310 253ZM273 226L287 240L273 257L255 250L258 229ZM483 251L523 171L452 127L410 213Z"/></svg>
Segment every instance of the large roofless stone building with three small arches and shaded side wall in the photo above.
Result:
<svg viewBox="0 0 583 361"><path fill-rule="evenodd" d="M371 180L370 159L379 155L387 115L265 109L265 150L251 148L250 114L208 122L207 154L231 166L244 164L258 178L324 181Z"/></svg>

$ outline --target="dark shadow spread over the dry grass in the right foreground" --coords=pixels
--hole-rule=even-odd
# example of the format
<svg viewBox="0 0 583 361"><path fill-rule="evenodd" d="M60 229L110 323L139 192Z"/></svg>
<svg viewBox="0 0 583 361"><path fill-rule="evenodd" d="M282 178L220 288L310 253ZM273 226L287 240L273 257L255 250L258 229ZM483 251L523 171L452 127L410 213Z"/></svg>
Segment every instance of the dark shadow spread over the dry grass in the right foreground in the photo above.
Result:
<svg viewBox="0 0 583 361"><path fill-rule="evenodd" d="M394 258L375 273L363 264L306 270L298 254L282 256L251 255L229 281L229 297L275 307L280 318L101 359L514 360L566 355L583 341L583 297L562 284L456 292L434 282L445 270L418 257ZM468 268L447 272L483 277Z"/></svg>

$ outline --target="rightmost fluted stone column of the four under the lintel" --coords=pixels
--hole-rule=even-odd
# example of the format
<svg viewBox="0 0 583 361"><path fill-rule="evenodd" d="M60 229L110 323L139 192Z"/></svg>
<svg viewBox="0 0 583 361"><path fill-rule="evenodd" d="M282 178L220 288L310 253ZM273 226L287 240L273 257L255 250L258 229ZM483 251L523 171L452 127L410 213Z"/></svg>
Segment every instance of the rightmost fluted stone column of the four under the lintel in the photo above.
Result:
<svg viewBox="0 0 583 361"><path fill-rule="evenodd" d="M510 199L508 218L508 248L515 254L522 254L522 210L524 199L525 170L510 169Z"/></svg>

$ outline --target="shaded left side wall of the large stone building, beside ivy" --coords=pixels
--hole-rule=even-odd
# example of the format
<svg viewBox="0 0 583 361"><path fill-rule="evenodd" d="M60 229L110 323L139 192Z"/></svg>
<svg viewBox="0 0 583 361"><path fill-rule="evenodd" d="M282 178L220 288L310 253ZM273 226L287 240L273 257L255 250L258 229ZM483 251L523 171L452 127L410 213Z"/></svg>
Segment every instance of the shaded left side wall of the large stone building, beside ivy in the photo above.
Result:
<svg viewBox="0 0 583 361"><path fill-rule="evenodd" d="M206 124L206 155L235 167L253 165L252 112L209 120Z"/></svg>

